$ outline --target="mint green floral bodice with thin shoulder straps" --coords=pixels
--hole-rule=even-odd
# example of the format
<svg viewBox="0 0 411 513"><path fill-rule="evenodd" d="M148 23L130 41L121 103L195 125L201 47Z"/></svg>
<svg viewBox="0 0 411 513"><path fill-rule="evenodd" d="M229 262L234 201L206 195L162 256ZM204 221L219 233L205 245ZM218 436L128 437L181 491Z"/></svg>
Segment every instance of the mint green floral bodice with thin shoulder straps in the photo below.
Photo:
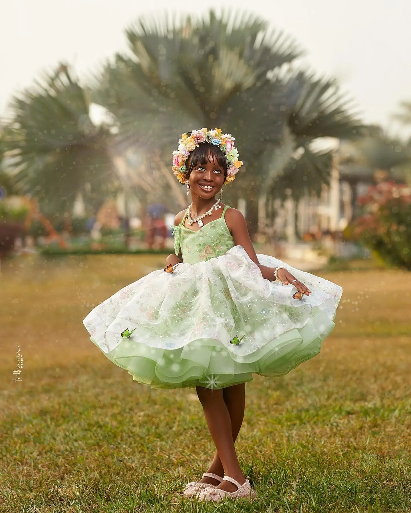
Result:
<svg viewBox="0 0 411 513"><path fill-rule="evenodd" d="M187 212L184 214L181 223L173 230L175 254L178 255L181 247L184 264L196 264L220 257L235 246L224 219L225 210L228 208L230 207L225 205L219 219L204 224L198 231L183 226Z"/></svg>

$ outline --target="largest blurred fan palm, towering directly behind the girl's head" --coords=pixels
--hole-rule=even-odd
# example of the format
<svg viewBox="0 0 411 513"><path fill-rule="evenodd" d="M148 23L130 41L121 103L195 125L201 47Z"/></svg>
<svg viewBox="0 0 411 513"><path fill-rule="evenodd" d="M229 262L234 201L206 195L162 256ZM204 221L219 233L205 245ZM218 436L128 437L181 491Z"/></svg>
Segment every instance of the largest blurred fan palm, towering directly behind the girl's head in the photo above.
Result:
<svg viewBox="0 0 411 513"><path fill-rule="evenodd" d="M284 71L303 52L254 15L141 17L127 37L130 54L116 55L93 94L116 116L118 139L169 164L179 134L203 126L231 131L244 174L224 199L246 198L251 234L258 198L296 149L309 151L307 142L320 136L350 138L359 128L334 83ZM284 147L289 154L279 159ZM313 173L312 184L327 173L330 167Z"/></svg>

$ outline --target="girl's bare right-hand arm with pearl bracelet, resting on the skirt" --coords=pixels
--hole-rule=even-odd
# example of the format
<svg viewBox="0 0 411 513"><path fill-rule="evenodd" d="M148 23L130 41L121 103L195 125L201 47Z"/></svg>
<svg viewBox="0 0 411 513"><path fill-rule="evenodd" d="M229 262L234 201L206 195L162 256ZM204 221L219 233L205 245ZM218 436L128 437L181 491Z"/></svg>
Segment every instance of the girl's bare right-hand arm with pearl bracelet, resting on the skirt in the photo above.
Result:
<svg viewBox="0 0 411 513"><path fill-rule="evenodd" d="M265 265L261 265L258 262L254 246L250 239L249 230L242 213L235 208L229 208L225 212L225 222L227 223L227 227L233 236L234 244L244 248L250 259L260 268L262 277L265 280L275 280L274 271L276 270L276 267L266 267ZM303 283L298 281L295 276L293 276L286 269L280 268L277 272L277 276L284 285L288 285L293 280L296 280L293 285L295 285L295 287L300 292L305 293L306 295L310 295L311 290L309 290L309 288L307 288Z"/></svg>

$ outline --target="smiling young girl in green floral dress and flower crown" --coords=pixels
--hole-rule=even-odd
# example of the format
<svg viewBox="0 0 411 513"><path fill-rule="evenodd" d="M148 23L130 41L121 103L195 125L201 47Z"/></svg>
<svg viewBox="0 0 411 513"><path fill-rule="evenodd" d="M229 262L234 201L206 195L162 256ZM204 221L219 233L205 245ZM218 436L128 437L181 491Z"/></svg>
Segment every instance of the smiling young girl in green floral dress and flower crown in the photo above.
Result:
<svg viewBox="0 0 411 513"><path fill-rule="evenodd" d="M234 448L245 383L253 372L281 376L318 354L342 294L255 253L241 212L221 203L222 186L242 164L233 142L220 129L182 134L173 172L192 203L175 217L166 272L119 290L83 321L92 342L133 380L196 387L216 453L184 495L203 501L256 497Z"/></svg>

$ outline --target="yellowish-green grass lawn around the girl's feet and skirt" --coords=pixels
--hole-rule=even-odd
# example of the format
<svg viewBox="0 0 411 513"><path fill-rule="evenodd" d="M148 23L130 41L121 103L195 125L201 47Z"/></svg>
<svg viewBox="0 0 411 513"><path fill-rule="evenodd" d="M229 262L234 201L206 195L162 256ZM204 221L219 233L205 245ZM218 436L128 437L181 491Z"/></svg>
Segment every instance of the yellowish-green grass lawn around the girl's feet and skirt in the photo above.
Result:
<svg viewBox="0 0 411 513"><path fill-rule="evenodd" d="M324 274L344 294L320 355L246 385L236 448L259 497L216 505L182 497L214 453L195 390L133 382L81 323L163 264L152 254L2 263L0 511L411 511L408 273Z"/></svg>

